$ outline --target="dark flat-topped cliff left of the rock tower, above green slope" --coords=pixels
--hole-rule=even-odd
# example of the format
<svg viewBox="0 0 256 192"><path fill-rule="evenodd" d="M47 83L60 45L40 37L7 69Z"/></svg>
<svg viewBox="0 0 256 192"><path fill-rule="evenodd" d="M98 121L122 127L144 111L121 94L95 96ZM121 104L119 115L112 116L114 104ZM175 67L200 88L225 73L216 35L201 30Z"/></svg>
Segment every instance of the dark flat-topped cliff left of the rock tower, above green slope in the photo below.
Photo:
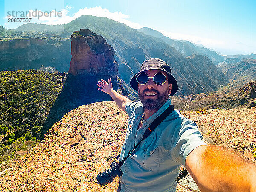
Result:
<svg viewBox="0 0 256 192"><path fill-rule="evenodd" d="M53 66L67 71L70 39L24 38L0 41L0 70L29 70ZM69 53L69 54L68 54Z"/></svg>

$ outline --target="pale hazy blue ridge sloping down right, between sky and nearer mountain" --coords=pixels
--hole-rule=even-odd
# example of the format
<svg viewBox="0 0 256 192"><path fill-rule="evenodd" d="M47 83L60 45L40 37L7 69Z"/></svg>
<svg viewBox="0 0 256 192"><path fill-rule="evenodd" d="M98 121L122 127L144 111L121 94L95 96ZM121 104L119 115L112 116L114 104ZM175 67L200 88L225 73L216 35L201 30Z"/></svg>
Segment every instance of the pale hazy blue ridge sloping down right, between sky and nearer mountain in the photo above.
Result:
<svg viewBox="0 0 256 192"><path fill-rule="evenodd" d="M222 58L221 55L218 55L215 51L209 50L206 47L192 44L189 41L173 40L169 37L164 36L162 33L158 32L154 29L148 28L148 27L143 27L143 28L137 29L137 30L139 32L143 32L147 35L151 35L153 37L163 39L163 41L165 41L170 46L174 47L184 57L190 56L192 54L208 56L209 59L215 65L224 61L224 59Z"/></svg>

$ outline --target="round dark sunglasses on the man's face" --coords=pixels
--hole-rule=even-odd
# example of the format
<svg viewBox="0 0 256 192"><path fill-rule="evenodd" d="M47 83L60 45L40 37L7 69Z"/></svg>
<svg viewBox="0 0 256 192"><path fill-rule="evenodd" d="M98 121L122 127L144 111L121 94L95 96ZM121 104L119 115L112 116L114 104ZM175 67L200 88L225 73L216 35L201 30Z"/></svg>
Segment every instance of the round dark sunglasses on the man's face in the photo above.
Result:
<svg viewBox="0 0 256 192"><path fill-rule="evenodd" d="M154 84L158 86L163 85L166 82L166 80L168 80L166 79L166 76L163 73L156 73L154 74L153 77L148 77L147 73L140 73L137 76L136 80L138 81L138 84L145 85L148 83L149 78L153 78Z"/></svg>

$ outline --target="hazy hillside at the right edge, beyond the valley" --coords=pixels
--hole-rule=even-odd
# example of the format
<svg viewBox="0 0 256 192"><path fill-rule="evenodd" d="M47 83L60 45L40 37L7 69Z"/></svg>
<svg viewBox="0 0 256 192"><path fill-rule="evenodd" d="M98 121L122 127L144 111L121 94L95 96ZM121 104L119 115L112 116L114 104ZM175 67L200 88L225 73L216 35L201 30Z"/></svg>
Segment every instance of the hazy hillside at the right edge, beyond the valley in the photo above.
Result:
<svg viewBox="0 0 256 192"><path fill-rule="evenodd" d="M249 81L256 81L256 59L243 59L236 63L229 62L229 59L226 61L217 67L229 78L231 87L240 88Z"/></svg>

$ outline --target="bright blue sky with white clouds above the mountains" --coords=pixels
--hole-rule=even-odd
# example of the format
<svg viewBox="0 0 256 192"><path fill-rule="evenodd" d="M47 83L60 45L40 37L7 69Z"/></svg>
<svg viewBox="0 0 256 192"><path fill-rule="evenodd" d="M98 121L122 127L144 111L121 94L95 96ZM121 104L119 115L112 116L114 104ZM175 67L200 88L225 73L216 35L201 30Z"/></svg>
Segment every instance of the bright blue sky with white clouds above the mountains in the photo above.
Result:
<svg viewBox="0 0 256 192"><path fill-rule="evenodd" d="M56 9L62 17L32 18L31 22L61 24L85 14L103 16L133 28L147 26L172 39L202 44L224 55L256 54L253 0L0 0L0 26L13 29L22 24L8 23L4 19L7 11L35 9Z"/></svg>

